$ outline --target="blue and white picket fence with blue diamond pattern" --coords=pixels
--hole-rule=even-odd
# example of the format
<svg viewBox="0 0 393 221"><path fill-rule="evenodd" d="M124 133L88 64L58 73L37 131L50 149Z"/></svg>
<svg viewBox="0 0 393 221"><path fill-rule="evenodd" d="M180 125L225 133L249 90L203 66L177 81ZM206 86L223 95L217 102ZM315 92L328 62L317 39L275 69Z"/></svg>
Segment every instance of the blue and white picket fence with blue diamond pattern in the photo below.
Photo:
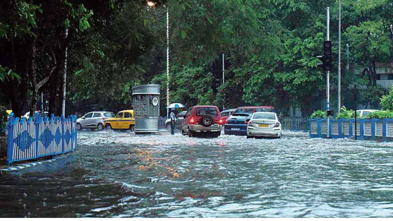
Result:
<svg viewBox="0 0 393 221"><path fill-rule="evenodd" d="M73 151L78 146L76 116L40 117L8 120L7 163L53 156Z"/></svg>

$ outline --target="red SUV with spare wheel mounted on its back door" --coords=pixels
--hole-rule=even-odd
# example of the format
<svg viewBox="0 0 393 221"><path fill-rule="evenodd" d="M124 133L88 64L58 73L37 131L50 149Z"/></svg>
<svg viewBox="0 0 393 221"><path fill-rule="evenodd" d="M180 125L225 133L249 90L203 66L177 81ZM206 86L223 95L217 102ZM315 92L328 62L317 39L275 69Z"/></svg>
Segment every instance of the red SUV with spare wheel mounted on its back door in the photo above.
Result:
<svg viewBox="0 0 393 221"><path fill-rule="evenodd" d="M196 134L210 134L218 137L221 134L222 120L217 106L190 107L184 115L182 134L189 137Z"/></svg>

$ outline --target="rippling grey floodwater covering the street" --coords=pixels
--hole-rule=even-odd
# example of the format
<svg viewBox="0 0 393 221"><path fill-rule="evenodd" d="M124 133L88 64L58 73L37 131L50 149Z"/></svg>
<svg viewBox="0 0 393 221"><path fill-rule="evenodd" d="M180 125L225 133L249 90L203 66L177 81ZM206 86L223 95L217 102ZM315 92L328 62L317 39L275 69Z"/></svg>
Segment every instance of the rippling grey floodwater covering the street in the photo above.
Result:
<svg viewBox="0 0 393 221"><path fill-rule="evenodd" d="M0 173L0 217L391 217L393 143L82 131Z"/></svg>

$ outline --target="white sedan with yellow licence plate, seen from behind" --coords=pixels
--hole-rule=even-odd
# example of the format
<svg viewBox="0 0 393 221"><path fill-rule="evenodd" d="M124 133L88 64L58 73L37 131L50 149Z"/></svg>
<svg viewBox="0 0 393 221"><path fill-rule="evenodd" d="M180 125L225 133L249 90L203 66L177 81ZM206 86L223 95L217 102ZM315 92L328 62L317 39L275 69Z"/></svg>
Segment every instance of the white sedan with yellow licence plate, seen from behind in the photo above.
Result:
<svg viewBox="0 0 393 221"><path fill-rule="evenodd" d="M272 112L255 112L246 120L247 138L276 137L281 138L281 123L277 114Z"/></svg>

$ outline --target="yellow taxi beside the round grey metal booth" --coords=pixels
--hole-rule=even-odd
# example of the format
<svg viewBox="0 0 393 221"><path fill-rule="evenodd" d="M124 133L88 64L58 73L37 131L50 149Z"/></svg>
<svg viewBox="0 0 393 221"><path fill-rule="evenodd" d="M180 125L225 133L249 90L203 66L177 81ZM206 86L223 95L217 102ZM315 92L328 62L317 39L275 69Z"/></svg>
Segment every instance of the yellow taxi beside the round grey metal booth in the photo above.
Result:
<svg viewBox="0 0 393 221"><path fill-rule="evenodd" d="M104 120L104 127L111 129L130 129L134 131L135 119L134 110L119 111L114 118Z"/></svg>

